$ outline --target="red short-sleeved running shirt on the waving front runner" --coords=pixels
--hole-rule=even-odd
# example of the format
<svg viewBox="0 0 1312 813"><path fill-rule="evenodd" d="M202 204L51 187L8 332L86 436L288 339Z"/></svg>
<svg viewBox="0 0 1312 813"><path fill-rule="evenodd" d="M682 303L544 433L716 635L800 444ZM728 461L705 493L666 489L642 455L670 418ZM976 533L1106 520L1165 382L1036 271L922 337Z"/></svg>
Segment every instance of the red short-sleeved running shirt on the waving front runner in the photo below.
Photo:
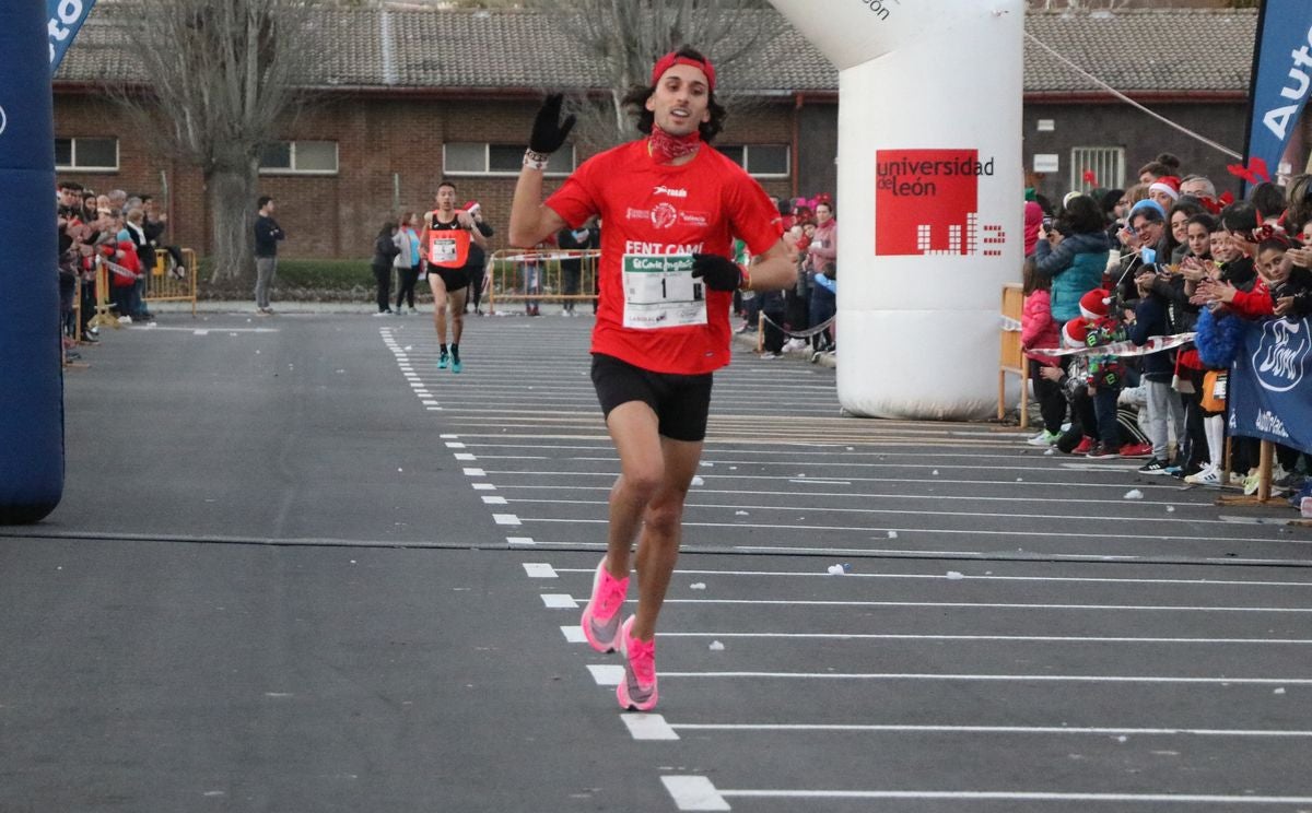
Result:
<svg viewBox="0 0 1312 813"><path fill-rule="evenodd" d="M698 375L729 363L733 294L701 290L705 324L626 327L626 256L732 257L735 237L764 254L783 233L774 201L710 146L681 165L657 164L647 142L607 149L575 170L547 206L572 228L601 215L601 298L592 351L652 372ZM630 313L630 323L636 317Z"/></svg>

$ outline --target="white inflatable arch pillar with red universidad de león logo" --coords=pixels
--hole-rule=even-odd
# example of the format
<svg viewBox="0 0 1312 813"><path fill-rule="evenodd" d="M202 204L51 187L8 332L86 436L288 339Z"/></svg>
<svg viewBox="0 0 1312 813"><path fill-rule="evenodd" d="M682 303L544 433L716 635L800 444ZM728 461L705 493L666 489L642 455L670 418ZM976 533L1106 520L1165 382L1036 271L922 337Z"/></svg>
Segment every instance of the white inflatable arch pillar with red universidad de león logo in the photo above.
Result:
<svg viewBox="0 0 1312 813"><path fill-rule="evenodd" d="M838 67L838 401L994 413L1023 260L1023 3L770 1Z"/></svg>

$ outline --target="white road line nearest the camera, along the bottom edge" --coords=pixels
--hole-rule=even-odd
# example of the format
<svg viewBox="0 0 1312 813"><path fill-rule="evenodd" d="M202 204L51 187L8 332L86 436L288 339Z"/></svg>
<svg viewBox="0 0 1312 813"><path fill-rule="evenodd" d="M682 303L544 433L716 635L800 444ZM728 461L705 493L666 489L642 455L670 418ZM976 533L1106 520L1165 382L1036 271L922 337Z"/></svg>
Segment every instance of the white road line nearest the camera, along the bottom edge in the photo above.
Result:
<svg viewBox="0 0 1312 813"><path fill-rule="evenodd" d="M672 779L663 776L663 780ZM698 776L697 779L702 779ZM708 782L708 780L707 780ZM668 787L668 785L666 785ZM718 797L753 799L946 799L954 801L1102 801L1174 803L1215 805L1302 805L1312 796L1221 796L1203 793L1059 793L1034 791L718 791ZM676 804L678 800L674 800ZM680 808L680 810L728 810L724 808Z"/></svg>

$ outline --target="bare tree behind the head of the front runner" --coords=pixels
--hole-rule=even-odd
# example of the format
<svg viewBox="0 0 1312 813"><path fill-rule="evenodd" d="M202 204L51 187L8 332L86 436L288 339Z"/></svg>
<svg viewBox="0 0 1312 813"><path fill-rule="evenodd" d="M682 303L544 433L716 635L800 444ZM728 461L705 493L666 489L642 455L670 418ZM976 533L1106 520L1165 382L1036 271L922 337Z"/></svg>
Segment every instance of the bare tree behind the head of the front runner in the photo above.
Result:
<svg viewBox="0 0 1312 813"><path fill-rule="evenodd" d="M576 98L579 138L609 147L632 138L622 100L647 84L652 63L684 45L715 62L716 71L756 59L782 30L761 0L526 0L548 25L579 43L585 59L604 66L609 97ZM741 100L728 101L741 106Z"/></svg>

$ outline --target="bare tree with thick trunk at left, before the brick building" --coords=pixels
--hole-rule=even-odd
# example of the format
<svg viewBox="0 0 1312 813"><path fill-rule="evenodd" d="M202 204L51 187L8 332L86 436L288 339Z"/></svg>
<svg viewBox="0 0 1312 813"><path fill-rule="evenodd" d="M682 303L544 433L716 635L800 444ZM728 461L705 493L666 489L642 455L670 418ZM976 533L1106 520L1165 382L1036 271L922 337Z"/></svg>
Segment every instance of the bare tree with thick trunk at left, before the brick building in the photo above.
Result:
<svg viewBox="0 0 1312 813"><path fill-rule="evenodd" d="M115 7L139 76L114 97L151 148L198 167L213 228L213 281L251 274L260 152L304 98L316 49L303 0L136 0Z"/></svg>

